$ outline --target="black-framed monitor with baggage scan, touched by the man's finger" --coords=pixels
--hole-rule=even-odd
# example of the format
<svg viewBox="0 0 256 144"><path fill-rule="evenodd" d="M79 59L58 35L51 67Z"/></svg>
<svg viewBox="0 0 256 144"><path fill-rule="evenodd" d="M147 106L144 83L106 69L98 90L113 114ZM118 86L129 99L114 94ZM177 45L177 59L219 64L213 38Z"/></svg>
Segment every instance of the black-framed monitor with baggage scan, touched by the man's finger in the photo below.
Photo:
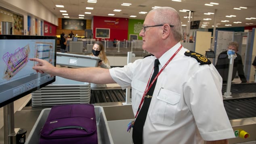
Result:
<svg viewBox="0 0 256 144"><path fill-rule="evenodd" d="M32 69L41 58L56 66L57 37L0 35L0 107L55 81Z"/></svg>

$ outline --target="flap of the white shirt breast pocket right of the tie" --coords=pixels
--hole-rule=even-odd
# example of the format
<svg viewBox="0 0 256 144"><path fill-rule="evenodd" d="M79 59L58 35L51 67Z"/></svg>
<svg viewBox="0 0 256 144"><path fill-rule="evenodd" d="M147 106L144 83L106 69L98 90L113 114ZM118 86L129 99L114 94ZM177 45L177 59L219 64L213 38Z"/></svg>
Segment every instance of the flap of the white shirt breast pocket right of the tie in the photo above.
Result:
<svg viewBox="0 0 256 144"><path fill-rule="evenodd" d="M157 95L157 99L174 105L180 101L180 94L161 88Z"/></svg>

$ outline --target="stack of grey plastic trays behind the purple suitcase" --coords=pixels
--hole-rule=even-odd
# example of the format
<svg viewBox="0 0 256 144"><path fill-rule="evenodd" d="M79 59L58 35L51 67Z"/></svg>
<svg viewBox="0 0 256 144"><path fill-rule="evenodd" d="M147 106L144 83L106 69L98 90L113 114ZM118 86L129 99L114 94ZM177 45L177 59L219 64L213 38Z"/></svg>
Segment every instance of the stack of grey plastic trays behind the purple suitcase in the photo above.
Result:
<svg viewBox="0 0 256 144"><path fill-rule="evenodd" d="M56 77L56 81L31 94L32 106L90 103L90 83Z"/></svg>

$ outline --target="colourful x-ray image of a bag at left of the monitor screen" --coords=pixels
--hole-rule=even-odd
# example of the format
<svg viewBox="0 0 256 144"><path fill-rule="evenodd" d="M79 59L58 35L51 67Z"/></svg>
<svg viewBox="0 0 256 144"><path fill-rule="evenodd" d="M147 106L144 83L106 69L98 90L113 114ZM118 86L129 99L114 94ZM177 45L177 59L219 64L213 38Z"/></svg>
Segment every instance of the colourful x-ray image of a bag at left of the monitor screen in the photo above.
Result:
<svg viewBox="0 0 256 144"><path fill-rule="evenodd" d="M13 54L5 53L3 60L6 64L6 71L4 72L4 79L10 80L16 73L18 73L28 62L28 55L30 49L29 45L23 48L17 48Z"/></svg>

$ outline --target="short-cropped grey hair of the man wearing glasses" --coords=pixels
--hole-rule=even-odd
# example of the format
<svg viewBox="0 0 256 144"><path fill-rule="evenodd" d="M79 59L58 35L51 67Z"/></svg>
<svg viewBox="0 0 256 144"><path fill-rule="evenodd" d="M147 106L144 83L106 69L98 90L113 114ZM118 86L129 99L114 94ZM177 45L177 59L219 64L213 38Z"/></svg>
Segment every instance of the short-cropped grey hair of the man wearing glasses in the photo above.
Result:
<svg viewBox="0 0 256 144"><path fill-rule="evenodd" d="M156 24L168 23L169 25L174 25L174 27L171 27L171 31L174 35L174 39L177 41L181 40L182 34L181 34L180 15L174 8L160 7L160 8L155 8L149 11L149 13L151 12L155 12L153 21Z"/></svg>

